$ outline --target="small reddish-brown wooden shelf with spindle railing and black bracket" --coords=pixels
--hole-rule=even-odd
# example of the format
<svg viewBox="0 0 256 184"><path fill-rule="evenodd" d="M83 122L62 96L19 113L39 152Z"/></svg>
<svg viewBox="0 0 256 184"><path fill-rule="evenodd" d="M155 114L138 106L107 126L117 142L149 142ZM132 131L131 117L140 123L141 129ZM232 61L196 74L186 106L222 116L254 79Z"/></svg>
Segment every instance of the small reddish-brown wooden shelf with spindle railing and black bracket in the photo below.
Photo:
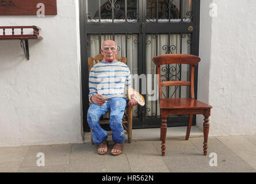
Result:
<svg viewBox="0 0 256 184"><path fill-rule="evenodd" d="M6 30L12 30L12 34L6 34ZM20 30L20 32L14 30ZM24 29L33 29L33 34L23 34ZM29 47L28 47L28 39L37 39L42 40L43 37L39 35L39 30L41 28L33 25L33 26L0 26L0 32L2 30L2 34L0 35L0 40L21 40L21 48L24 50L24 54L26 59L29 60ZM16 33L16 34L15 34ZM25 41L25 45L24 45Z"/></svg>

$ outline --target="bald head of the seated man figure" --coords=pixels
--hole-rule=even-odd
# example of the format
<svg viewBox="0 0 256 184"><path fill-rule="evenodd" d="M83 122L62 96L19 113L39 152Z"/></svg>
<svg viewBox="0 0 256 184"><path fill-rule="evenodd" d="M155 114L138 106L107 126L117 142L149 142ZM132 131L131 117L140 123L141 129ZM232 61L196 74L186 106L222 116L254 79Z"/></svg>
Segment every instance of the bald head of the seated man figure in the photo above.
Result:
<svg viewBox="0 0 256 184"><path fill-rule="evenodd" d="M102 62L112 63L116 61L117 45L113 40L106 40L102 43L101 53L104 56Z"/></svg>

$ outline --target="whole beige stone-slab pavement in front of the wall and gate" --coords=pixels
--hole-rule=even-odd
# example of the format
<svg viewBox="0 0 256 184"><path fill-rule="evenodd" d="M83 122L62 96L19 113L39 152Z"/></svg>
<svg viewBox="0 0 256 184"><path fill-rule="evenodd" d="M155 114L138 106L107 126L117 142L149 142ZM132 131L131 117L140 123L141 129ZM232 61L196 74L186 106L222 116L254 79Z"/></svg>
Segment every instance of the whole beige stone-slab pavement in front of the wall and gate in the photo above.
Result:
<svg viewBox="0 0 256 184"><path fill-rule="evenodd" d="M192 136L188 141L167 136L165 157L161 156L159 138L138 138L131 144L125 142L123 154L120 156L110 155L112 141L108 154L104 156L97 154L97 146L91 145L90 141L82 144L0 147L0 172L256 171L256 135L209 137L208 156L202 155L202 143L201 136ZM45 155L44 167L36 164L39 152ZM217 166L209 166L211 152L217 154Z"/></svg>

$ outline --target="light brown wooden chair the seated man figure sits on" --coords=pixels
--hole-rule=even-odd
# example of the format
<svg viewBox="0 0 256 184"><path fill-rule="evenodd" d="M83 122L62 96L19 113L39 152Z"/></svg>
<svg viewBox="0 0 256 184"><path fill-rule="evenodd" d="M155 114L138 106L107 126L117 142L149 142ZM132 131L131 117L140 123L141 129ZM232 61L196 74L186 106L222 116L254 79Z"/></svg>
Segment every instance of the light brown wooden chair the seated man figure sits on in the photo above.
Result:
<svg viewBox="0 0 256 184"><path fill-rule="evenodd" d="M100 53L99 55L95 57L89 57L88 58L88 63L89 63L89 71L91 71L91 68L93 67L94 64L97 64L98 61L101 61L103 59L103 55ZM121 60L121 62L127 64L127 58L126 57L121 57L121 56L116 56L117 60ZM95 63L93 62L95 61ZM110 112L110 111L109 111ZM107 113L109 113L107 112ZM99 124L109 124L109 120L100 120ZM128 143L132 142L132 107L127 106L124 111L124 117L122 121L123 127L125 131L128 134ZM90 131L91 133L91 131ZM108 133L108 135L112 135L112 133ZM93 143L93 134L91 133L91 144Z"/></svg>

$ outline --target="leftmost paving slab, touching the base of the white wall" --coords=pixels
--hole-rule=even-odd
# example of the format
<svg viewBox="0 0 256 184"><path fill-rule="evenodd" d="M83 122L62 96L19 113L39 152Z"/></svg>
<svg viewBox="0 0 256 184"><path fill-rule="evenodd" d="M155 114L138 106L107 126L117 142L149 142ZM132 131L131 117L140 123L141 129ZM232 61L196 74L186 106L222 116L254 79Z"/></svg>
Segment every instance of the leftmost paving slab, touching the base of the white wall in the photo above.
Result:
<svg viewBox="0 0 256 184"><path fill-rule="evenodd" d="M26 156L29 146L24 147L0 147L0 164L17 162L20 163Z"/></svg>

